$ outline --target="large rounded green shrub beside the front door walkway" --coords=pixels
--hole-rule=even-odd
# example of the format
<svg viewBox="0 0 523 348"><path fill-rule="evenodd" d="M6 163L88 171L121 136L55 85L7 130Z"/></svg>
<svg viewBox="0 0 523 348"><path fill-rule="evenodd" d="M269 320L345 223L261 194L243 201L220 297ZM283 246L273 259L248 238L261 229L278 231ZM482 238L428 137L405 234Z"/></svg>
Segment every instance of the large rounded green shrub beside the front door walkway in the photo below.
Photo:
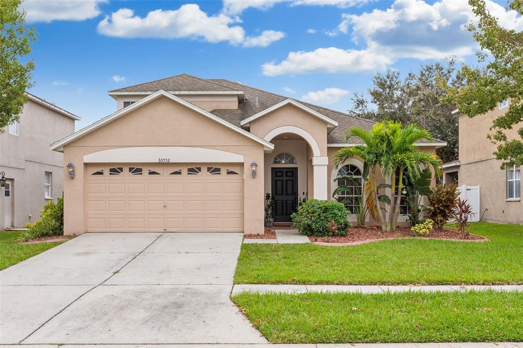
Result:
<svg viewBox="0 0 523 348"><path fill-rule="evenodd" d="M345 236L350 227L347 215L349 211L343 203L310 199L291 215L292 226L307 236L328 237L330 227L335 225L334 235Z"/></svg>

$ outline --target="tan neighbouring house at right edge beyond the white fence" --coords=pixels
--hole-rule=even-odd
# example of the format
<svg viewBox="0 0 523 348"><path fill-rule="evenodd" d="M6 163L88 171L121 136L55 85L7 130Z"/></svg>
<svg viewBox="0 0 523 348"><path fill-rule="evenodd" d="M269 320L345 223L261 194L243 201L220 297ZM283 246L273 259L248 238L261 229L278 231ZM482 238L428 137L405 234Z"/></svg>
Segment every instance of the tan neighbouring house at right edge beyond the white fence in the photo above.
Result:
<svg viewBox="0 0 523 348"><path fill-rule="evenodd" d="M459 115L459 159L444 164L444 182L459 186L479 186L479 214L482 221L523 224L521 201L521 165L501 169L493 153L496 145L488 140L494 119L508 110L509 100L494 110L469 118ZM458 113L457 110L454 113ZM520 123L508 131L509 138L519 138Z"/></svg>

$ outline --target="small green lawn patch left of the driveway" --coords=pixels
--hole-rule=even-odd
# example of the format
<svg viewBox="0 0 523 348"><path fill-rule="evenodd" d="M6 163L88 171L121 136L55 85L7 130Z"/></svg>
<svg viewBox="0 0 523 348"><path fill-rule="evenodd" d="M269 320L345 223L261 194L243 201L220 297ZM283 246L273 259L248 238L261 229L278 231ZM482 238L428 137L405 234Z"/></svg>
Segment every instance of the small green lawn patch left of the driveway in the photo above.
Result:
<svg viewBox="0 0 523 348"><path fill-rule="evenodd" d="M21 231L0 231L0 270L29 259L62 242L19 245Z"/></svg>

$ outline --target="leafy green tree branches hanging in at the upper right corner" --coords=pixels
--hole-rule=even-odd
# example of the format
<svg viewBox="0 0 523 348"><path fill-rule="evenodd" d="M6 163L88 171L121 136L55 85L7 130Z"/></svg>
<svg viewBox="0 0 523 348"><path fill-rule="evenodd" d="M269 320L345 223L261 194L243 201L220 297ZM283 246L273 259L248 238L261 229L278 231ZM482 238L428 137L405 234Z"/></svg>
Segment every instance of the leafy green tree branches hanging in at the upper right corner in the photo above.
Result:
<svg viewBox="0 0 523 348"><path fill-rule="evenodd" d="M498 24L497 18L486 9L484 0L469 0L477 18L477 24L470 24L469 30L480 44L483 52L476 55L480 65L463 65L460 74L463 86L448 86L444 102L456 104L459 112L468 117L484 114L497 107L498 103L510 99L510 105L503 115L496 118L488 138L497 145L494 155L502 161L501 168L523 163L523 32L508 30ZM523 15L523 2L514 0L509 9ZM485 53L488 52L488 53ZM515 138L509 130L517 129Z"/></svg>

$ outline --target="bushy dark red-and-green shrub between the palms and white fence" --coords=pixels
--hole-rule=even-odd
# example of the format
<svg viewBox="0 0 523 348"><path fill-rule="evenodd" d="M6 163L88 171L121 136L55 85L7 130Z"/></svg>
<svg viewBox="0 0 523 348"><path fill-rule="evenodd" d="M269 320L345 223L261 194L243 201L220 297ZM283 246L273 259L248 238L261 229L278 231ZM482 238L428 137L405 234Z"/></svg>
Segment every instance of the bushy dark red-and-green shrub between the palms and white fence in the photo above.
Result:
<svg viewBox="0 0 523 348"><path fill-rule="evenodd" d="M438 185L429 195L429 216L436 224L436 228L442 228L453 216L458 206L458 185Z"/></svg>

